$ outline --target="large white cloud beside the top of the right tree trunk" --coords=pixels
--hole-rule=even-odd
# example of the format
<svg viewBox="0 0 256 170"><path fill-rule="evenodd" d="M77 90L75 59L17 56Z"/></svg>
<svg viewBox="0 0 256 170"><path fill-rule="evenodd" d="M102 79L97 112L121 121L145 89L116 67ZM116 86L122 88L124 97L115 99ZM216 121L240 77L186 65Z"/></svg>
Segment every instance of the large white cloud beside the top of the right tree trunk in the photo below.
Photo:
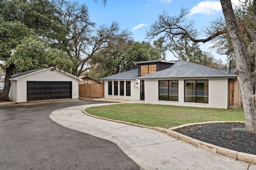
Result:
<svg viewBox="0 0 256 170"><path fill-rule="evenodd" d="M215 12L222 11L219 1L202 1L190 10L190 15L193 14L215 14Z"/></svg>

